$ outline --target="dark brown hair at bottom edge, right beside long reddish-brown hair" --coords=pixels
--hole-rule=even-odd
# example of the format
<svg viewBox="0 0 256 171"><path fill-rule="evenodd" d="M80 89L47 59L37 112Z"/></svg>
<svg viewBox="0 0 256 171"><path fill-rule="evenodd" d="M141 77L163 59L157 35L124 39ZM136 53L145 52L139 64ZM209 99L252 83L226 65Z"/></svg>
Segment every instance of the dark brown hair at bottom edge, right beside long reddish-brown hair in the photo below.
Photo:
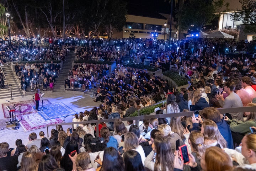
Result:
<svg viewBox="0 0 256 171"><path fill-rule="evenodd" d="M59 168L59 165L54 157L52 155L46 154L42 156L37 171L52 171L57 168Z"/></svg>

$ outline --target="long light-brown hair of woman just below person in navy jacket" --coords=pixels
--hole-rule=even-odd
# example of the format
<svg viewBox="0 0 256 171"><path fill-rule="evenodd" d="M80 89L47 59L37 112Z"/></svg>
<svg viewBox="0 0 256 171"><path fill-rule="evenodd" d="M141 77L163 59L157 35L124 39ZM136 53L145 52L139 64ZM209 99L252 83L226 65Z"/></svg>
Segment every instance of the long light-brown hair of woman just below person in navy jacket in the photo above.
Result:
<svg viewBox="0 0 256 171"><path fill-rule="evenodd" d="M222 146L222 148L226 147L227 142L223 138L222 134L220 134L219 128L215 122L206 119L202 123L202 127L204 128L204 142L206 140L217 140L218 143Z"/></svg>

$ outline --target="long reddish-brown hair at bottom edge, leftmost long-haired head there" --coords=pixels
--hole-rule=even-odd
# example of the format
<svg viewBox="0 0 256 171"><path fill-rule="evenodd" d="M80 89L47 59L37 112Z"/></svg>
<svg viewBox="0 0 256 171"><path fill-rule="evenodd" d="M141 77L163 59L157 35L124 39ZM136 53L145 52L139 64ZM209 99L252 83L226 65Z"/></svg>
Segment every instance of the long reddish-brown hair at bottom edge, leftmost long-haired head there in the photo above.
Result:
<svg viewBox="0 0 256 171"><path fill-rule="evenodd" d="M21 168L19 171L37 171L37 169L38 165L33 153L25 151L21 158Z"/></svg>

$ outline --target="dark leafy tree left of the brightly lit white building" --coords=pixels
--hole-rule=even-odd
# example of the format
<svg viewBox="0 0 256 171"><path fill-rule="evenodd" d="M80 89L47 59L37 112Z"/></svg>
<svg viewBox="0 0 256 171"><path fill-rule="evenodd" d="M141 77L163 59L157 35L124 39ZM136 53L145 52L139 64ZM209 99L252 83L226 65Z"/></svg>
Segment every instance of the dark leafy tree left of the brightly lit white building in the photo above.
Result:
<svg viewBox="0 0 256 171"><path fill-rule="evenodd" d="M178 25L183 30L193 26L193 31L200 31L224 6L224 0L187 0L186 2L178 14Z"/></svg>

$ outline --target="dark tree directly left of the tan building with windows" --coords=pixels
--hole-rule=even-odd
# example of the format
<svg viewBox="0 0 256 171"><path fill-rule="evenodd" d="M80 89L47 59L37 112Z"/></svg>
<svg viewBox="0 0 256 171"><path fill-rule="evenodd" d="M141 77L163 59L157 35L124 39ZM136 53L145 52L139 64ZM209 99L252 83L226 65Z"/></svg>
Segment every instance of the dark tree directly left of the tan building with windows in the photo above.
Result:
<svg viewBox="0 0 256 171"><path fill-rule="evenodd" d="M109 0L106 6L106 17L103 26L106 28L108 37L111 38L113 31L122 31L126 23L126 5L123 0Z"/></svg>

